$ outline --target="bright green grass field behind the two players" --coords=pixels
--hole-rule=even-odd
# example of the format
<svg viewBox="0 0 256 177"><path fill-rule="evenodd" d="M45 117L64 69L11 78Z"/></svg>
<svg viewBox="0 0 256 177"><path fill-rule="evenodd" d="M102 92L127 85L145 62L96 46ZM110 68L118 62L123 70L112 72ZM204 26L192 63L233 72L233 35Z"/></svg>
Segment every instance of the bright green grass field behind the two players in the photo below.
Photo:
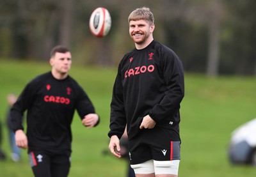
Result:
<svg viewBox="0 0 256 177"><path fill-rule="evenodd" d="M25 84L40 73L50 70L48 63L28 63L0 60L0 119L6 116L6 95L19 95ZM100 125L87 130L77 114L72 123L72 167L70 177L125 176L127 163L111 155L108 149L109 104L116 68L82 67L73 63L70 75L90 96L100 114ZM239 125L255 118L256 84L254 77L217 77L186 73L186 95L181 104L180 135L182 160L180 177L240 177L255 176L256 168L231 165L227 148L231 132ZM0 161L0 176L30 177L26 151L22 161L12 162L3 127L2 149L8 156Z"/></svg>

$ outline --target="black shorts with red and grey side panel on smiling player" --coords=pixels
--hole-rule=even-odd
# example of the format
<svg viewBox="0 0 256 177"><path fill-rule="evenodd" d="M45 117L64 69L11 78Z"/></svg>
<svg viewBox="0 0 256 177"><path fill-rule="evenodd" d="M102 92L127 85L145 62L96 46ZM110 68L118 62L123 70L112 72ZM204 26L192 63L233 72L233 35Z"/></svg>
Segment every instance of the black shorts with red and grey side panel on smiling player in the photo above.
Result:
<svg viewBox="0 0 256 177"><path fill-rule="evenodd" d="M173 140L173 130L162 127L143 129L129 140L130 164L147 160L180 160L180 140Z"/></svg>

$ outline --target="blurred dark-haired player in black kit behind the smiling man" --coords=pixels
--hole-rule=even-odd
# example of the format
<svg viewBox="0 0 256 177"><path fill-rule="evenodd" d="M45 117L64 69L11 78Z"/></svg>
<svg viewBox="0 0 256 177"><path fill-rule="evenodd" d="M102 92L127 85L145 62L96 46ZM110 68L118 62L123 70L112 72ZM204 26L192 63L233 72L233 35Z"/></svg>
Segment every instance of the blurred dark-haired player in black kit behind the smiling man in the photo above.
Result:
<svg viewBox="0 0 256 177"><path fill-rule="evenodd" d="M87 128L98 125L90 98L68 75L70 51L56 46L51 51L51 72L30 81L11 109L12 129L18 147L27 149L36 177L68 176L72 134L70 125L77 110ZM27 131L22 115L27 110Z"/></svg>

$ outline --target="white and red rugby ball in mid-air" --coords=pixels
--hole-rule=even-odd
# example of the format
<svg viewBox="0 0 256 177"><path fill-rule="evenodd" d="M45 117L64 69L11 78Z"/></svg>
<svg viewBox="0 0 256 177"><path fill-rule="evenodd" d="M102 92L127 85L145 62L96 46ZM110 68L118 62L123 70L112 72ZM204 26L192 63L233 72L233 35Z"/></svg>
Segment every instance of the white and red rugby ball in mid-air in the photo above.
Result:
<svg viewBox="0 0 256 177"><path fill-rule="evenodd" d="M111 16L106 8L99 7L90 17L90 31L99 38L108 35L111 28Z"/></svg>

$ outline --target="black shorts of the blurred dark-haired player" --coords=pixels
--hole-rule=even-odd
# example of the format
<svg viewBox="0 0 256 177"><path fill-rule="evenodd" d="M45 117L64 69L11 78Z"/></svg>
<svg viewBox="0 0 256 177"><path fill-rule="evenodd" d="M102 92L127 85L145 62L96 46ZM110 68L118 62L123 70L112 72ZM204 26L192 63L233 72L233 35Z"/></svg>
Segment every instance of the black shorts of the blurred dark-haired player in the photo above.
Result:
<svg viewBox="0 0 256 177"><path fill-rule="evenodd" d="M70 169L70 152L29 151L29 162L35 177L67 177Z"/></svg>

